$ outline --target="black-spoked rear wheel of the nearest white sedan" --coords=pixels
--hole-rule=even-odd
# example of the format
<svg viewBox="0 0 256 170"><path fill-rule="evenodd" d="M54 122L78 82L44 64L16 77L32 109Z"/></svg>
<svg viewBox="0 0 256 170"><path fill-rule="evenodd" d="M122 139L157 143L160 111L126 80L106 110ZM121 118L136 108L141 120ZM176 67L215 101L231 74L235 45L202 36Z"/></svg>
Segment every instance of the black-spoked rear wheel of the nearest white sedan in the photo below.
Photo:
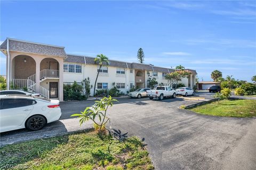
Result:
<svg viewBox="0 0 256 170"><path fill-rule="evenodd" d="M41 115L34 115L29 117L26 122L26 128L31 131L37 131L43 128L46 124L46 119Z"/></svg>

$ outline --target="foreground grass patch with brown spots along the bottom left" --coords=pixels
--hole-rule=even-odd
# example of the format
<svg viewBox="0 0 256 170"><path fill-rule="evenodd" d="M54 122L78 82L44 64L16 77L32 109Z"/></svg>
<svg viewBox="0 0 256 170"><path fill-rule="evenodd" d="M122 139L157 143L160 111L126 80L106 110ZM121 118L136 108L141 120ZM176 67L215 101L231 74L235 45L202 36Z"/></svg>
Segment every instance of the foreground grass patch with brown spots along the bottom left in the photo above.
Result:
<svg viewBox="0 0 256 170"><path fill-rule="evenodd" d="M89 131L27 141L0 148L0 169L154 169L148 151L136 137L125 142Z"/></svg>

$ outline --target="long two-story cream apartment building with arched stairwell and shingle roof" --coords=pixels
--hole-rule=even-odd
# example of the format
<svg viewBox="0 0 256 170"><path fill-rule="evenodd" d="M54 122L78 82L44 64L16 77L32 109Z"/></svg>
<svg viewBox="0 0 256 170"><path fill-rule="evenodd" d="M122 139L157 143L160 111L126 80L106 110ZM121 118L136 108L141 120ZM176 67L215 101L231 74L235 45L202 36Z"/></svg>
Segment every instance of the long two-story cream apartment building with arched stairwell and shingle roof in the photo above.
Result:
<svg viewBox="0 0 256 170"><path fill-rule="evenodd" d="M63 84L82 82L89 77L94 85L99 66L94 57L66 54L65 47L7 38L0 46L6 55L7 89L24 88L47 98L63 100ZM96 89L116 86L126 94L130 88L148 87L149 79L167 85L165 75L173 69L149 64L109 60L102 66ZM182 79L187 87L195 86L196 71ZM91 89L93 94L93 88Z"/></svg>

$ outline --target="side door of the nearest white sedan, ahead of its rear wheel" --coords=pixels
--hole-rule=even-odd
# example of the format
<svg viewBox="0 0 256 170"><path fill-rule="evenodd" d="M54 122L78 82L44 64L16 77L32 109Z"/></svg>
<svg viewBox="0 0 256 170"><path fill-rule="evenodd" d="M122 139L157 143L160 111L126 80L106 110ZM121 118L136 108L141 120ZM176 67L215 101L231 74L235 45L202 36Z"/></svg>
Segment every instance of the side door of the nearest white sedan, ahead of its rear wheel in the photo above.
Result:
<svg viewBox="0 0 256 170"><path fill-rule="evenodd" d="M0 128L1 131L16 129L26 120L33 105L32 99L1 99Z"/></svg>

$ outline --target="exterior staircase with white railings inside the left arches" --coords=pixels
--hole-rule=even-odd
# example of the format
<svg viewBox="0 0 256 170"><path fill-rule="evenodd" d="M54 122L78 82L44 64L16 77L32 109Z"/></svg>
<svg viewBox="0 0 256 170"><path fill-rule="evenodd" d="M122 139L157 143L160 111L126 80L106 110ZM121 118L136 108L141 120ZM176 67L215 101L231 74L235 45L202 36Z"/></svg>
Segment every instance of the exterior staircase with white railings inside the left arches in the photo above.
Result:
<svg viewBox="0 0 256 170"><path fill-rule="evenodd" d="M59 70L48 70L44 69L40 71L40 82L46 80L47 78L58 79ZM36 74L30 75L27 79L12 79L13 88L27 89L31 93L36 92ZM39 87L39 94L43 97L50 98L50 91L42 86Z"/></svg>

